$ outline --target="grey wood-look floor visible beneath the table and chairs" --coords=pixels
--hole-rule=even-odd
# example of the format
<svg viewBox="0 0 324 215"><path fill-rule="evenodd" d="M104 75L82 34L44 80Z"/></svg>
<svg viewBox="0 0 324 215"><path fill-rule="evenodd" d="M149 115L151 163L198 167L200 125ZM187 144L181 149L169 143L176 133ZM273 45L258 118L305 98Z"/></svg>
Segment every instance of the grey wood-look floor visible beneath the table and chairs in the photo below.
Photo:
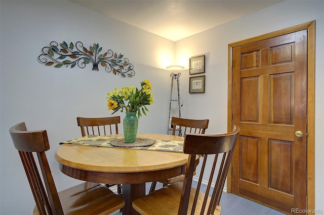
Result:
<svg viewBox="0 0 324 215"><path fill-rule="evenodd" d="M146 183L146 193L150 189L151 183ZM194 181L193 181L194 186ZM162 187L162 184L157 183L156 189ZM242 198L232 193L223 192L221 197L222 215L281 215L285 214L274 210L270 207L258 204L246 198ZM121 212L115 211L113 215L121 215Z"/></svg>

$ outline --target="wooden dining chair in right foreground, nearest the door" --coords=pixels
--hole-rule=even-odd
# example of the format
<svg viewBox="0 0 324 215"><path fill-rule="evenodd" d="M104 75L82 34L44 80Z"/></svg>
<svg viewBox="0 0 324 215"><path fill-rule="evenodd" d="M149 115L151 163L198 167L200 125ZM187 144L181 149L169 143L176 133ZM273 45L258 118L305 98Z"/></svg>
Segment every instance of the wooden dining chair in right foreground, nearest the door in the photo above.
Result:
<svg viewBox="0 0 324 215"><path fill-rule="evenodd" d="M133 208L140 214L147 215L220 214L220 199L238 133L238 126L234 126L233 131L226 134L186 133L183 153L188 154L189 158L184 181L168 185L136 199L133 201ZM203 163L197 186L193 188L191 186L196 155L202 155L200 158L203 158ZM204 181L208 180L208 184L206 191L201 192L204 175L206 175ZM215 186L212 186L213 183Z"/></svg>

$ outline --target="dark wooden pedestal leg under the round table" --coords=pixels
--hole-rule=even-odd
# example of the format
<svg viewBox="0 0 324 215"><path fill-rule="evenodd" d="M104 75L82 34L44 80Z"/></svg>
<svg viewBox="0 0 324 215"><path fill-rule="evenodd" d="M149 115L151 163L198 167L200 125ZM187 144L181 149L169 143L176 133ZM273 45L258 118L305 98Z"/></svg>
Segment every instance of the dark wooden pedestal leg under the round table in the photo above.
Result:
<svg viewBox="0 0 324 215"><path fill-rule="evenodd" d="M132 206L132 202L145 196L145 183L142 184L123 184L123 199L125 206L123 207L123 215L139 214Z"/></svg>

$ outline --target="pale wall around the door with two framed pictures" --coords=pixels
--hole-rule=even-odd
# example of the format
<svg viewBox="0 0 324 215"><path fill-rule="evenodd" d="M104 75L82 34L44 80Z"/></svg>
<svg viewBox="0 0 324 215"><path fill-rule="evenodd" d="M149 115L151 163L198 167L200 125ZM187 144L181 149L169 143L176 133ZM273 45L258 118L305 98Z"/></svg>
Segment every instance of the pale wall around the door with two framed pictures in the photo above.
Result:
<svg viewBox="0 0 324 215"><path fill-rule="evenodd" d="M228 44L316 20L315 49L315 208L324 211L324 1L284 1L176 42L176 61L206 55L206 93L184 93L184 116L209 118L206 133L225 132ZM188 65L187 65L188 67ZM188 73L182 89L188 92ZM186 87L186 89L184 89ZM190 108L189 108L190 107ZM306 186L306 185L305 185Z"/></svg>

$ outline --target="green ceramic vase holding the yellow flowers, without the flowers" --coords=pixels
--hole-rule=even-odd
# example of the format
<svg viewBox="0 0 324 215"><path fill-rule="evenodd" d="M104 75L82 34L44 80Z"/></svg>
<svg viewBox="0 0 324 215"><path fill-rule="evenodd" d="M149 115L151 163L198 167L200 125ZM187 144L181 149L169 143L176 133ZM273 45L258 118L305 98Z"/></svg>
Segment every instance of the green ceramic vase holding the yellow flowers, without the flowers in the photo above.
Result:
<svg viewBox="0 0 324 215"><path fill-rule="evenodd" d="M136 112L126 112L123 120L124 137L126 143L134 143L137 135L138 119Z"/></svg>

